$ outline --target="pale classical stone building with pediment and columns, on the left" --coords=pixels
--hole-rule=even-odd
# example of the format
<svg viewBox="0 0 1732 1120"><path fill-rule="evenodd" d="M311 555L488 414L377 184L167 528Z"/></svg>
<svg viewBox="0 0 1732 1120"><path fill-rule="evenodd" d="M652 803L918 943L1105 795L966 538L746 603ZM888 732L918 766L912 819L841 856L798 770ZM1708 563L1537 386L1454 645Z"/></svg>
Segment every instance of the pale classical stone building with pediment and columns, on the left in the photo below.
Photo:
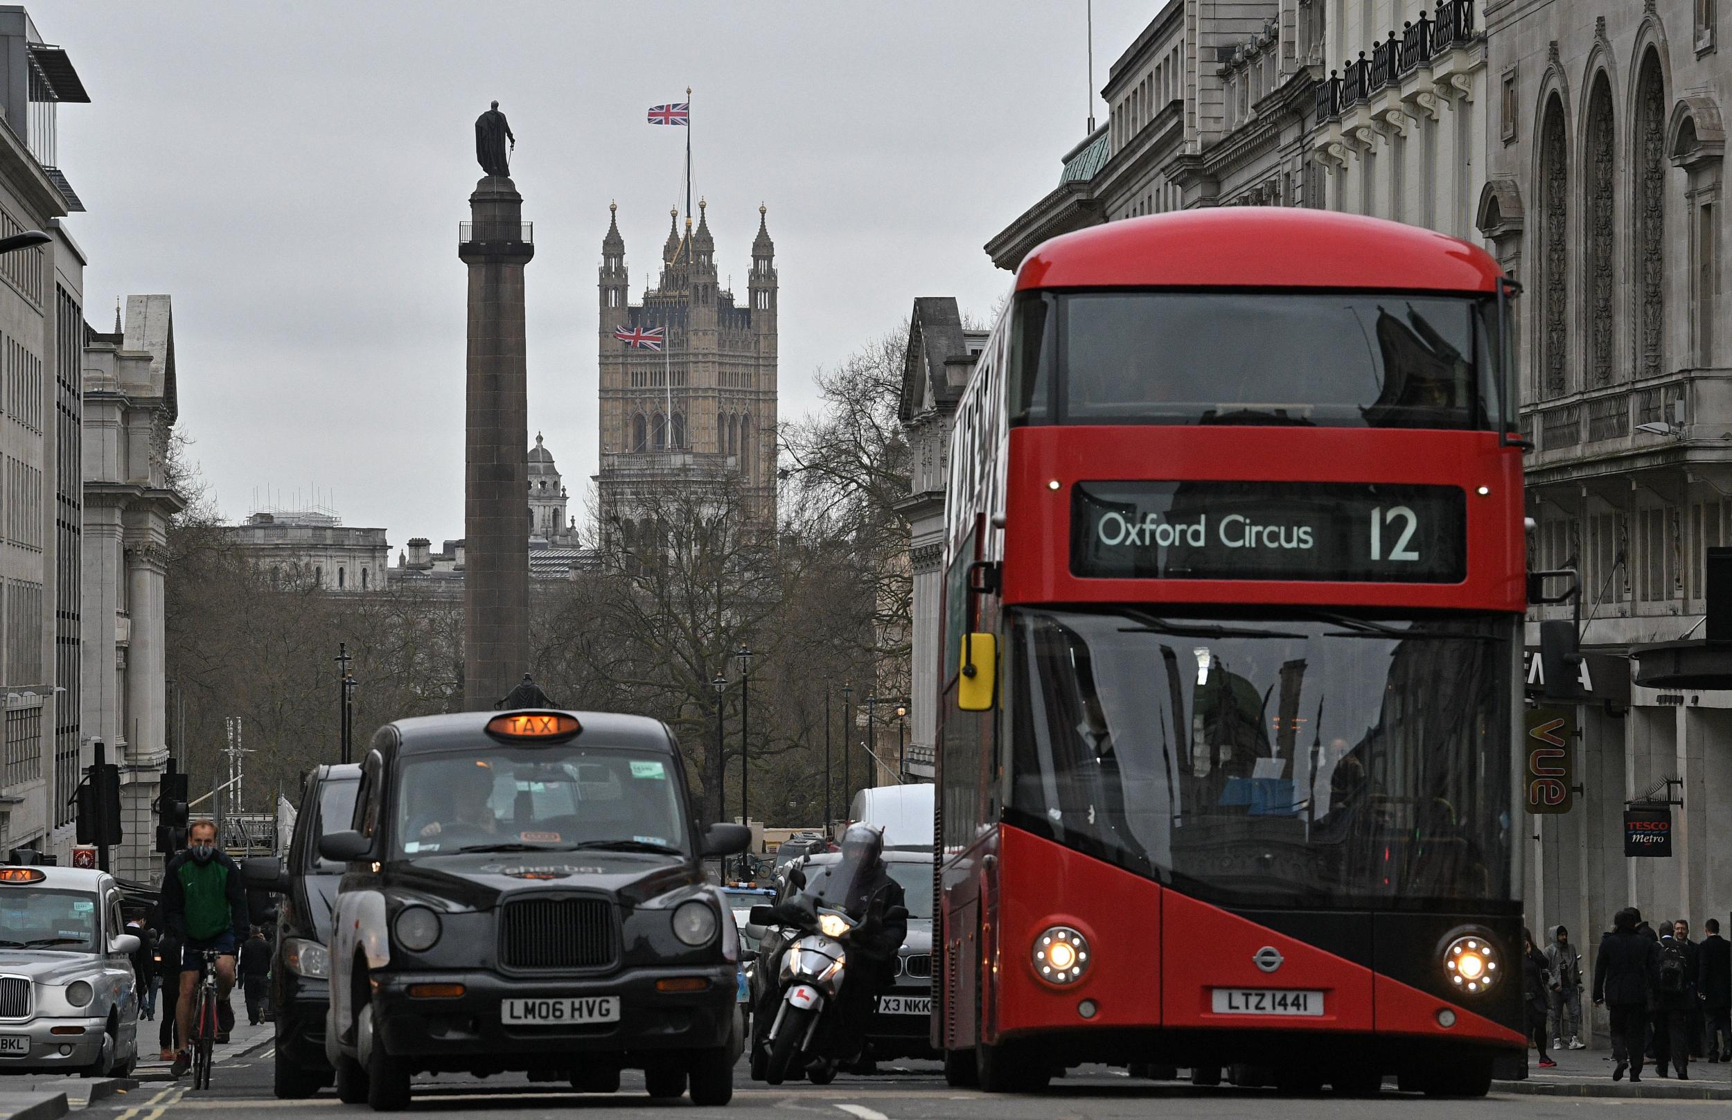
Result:
<svg viewBox="0 0 1732 1120"><path fill-rule="evenodd" d="M125 841L116 874L151 881L156 800L168 763L168 523L185 500L165 448L178 415L175 317L168 296L130 296L125 324L83 348L85 736L120 763Z"/></svg>

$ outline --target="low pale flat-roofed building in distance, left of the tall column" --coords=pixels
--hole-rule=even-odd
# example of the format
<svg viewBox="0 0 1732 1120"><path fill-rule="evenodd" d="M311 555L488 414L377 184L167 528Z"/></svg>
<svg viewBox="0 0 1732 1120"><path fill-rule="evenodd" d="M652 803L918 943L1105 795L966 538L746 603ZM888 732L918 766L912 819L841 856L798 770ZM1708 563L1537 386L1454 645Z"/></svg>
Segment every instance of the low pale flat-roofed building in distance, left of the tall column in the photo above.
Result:
<svg viewBox="0 0 1732 1120"><path fill-rule="evenodd" d="M359 594L385 590L390 580L385 530L343 525L327 509L256 512L229 533L274 582Z"/></svg>

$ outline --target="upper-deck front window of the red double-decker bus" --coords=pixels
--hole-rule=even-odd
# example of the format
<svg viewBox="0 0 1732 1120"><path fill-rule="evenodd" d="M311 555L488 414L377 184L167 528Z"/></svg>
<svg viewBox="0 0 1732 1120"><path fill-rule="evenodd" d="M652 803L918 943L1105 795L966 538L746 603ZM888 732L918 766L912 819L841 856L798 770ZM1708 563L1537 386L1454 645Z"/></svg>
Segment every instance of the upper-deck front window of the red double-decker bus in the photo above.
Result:
<svg viewBox="0 0 1732 1120"><path fill-rule="evenodd" d="M1495 303L1436 294L1044 293L1011 421L1495 429Z"/></svg>

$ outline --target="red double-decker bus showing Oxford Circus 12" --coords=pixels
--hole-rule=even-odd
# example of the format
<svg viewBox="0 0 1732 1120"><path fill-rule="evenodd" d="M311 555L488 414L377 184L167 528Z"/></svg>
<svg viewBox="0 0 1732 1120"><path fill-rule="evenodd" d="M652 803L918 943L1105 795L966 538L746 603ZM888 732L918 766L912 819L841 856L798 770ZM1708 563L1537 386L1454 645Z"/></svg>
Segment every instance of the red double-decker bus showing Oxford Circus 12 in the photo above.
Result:
<svg viewBox="0 0 1732 1120"><path fill-rule="evenodd" d="M1512 291L1309 209L1022 263L951 443L953 1084L1483 1094L1524 1059Z"/></svg>

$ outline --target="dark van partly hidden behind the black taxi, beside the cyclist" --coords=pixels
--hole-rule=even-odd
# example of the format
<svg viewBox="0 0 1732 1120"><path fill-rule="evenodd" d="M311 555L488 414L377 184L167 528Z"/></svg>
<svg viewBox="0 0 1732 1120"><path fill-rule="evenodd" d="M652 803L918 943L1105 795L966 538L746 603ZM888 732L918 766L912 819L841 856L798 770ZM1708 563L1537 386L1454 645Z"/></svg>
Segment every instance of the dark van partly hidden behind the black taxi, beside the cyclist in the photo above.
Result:
<svg viewBox="0 0 1732 1120"><path fill-rule="evenodd" d="M331 914L343 864L319 855L319 838L345 831L355 815L360 767L313 767L301 786L288 860L255 857L246 885L279 891L277 945L270 961L270 1006L277 1028L274 1087L279 1097L310 1097L334 1073L324 1052L331 1002Z"/></svg>

